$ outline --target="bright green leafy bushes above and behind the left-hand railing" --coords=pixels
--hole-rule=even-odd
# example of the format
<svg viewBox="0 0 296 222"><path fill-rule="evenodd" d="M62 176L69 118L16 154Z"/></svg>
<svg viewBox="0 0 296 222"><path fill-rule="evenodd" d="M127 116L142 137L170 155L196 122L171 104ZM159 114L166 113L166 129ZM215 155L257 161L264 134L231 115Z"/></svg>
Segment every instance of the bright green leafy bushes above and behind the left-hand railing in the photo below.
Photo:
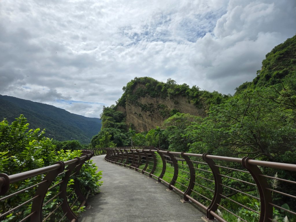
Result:
<svg viewBox="0 0 296 222"><path fill-rule="evenodd" d="M77 150L77 147L73 147L73 149L71 148L72 150L59 150L60 148L57 149L52 139L49 139L44 135L45 131L41 131L39 128L35 130L29 130L29 124L23 115L20 115L19 118L16 118L12 124L9 124L5 119L0 122L0 172L12 175L52 165L57 161L71 160L74 157L79 157L82 155L82 152ZM68 143L63 145L65 145L65 147L69 147L69 144L72 144L71 142L72 141L68 141ZM74 142L76 143L77 141ZM81 146L82 145L80 144L80 147ZM98 188L102 184L102 182L99 181L101 179L102 173L96 173L96 170L97 167L92 163L92 160L89 160L81 169L81 174L78 177L79 183L83 186L89 187L92 194L98 192ZM8 194L32 186L33 184L40 182L43 177L44 175L36 176L14 183L10 186ZM53 183L56 184L61 179L62 177L59 176ZM68 185L71 183L73 183L73 178L70 178ZM59 186L56 186L51 191L47 192L46 200L51 199L58 193L58 187ZM69 186L69 193L71 192L71 189L72 188ZM23 192L17 196L2 201L0 203L1 211L6 212L20 203L27 201L32 197L35 191L36 188L30 189L27 192ZM49 202L44 207L43 215L45 216L51 212L60 201L61 200L59 200L59 198L54 198L51 202ZM73 200L70 199L69 201ZM8 215L6 219L1 219L5 219L4 221L20 221L30 213L31 205L31 203L28 205L23 205L18 210ZM83 210L79 209L78 206L75 206L73 209L77 213ZM51 218L52 221L58 221L59 219L55 220L54 218L61 218L61 213L62 212L57 211L54 217Z"/></svg>

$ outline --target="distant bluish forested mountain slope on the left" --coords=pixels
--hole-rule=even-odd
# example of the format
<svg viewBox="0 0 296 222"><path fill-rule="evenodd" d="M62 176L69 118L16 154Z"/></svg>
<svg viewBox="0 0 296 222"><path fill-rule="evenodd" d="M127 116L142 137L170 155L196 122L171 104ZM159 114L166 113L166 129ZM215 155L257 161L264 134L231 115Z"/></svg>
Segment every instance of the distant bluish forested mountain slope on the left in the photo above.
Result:
<svg viewBox="0 0 296 222"><path fill-rule="evenodd" d="M66 110L30 100L0 95L0 119L9 123L23 114L30 123L29 128L46 129L45 136L56 140L72 140L88 143L101 129L99 118L89 118ZM49 135L51 134L51 135Z"/></svg>

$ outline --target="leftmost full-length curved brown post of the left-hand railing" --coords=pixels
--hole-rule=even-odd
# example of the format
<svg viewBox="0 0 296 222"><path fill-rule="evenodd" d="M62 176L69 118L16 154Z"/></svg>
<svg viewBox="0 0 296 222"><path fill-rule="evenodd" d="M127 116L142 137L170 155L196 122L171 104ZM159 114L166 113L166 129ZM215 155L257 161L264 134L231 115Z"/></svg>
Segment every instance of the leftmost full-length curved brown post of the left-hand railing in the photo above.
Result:
<svg viewBox="0 0 296 222"><path fill-rule="evenodd" d="M60 167L56 170L52 170L46 174L46 176L43 178L42 181L46 181L44 184L41 184L38 186L38 189L36 190L35 197L38 196L36 199L32 202L32 208L31 213L32 214L30 221L31 222L41 222L42 221L42 207L43 207L43 201L46 195L46 192L52 183L52 181L57 177L59 173L62 173L65 169L65 164L62 161L58 161L55 164L59 164Z"/></svg>

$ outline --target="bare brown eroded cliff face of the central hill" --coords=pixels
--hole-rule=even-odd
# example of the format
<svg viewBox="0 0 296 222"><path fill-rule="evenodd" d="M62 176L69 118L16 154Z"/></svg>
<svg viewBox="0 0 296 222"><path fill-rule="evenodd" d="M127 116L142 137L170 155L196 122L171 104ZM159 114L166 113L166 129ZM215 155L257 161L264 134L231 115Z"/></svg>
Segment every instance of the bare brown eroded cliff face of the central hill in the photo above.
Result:
<svg viewBox="0 0 296 222"><path fill-rule="evenodd" d="M137 132L149 131L156 126L161 126L163 121L173 111L189 113L191 115L205 117L205 109L198 109L183 96L173 98L153 98L151 96L140 97L136 103L126 102L126 106L118 106L118 111L126 114L126 125L133 124Z"/></svg>

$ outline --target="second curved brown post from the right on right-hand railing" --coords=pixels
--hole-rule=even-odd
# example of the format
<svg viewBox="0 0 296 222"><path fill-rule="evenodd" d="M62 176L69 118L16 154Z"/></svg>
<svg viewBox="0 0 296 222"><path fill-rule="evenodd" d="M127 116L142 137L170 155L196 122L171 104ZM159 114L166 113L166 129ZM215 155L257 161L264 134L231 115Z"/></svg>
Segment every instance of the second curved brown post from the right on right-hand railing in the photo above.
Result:
<svg viewBox="0 0 296 222"><path fill-rule="evenodd" d="M210 169L212 170L214 181L215 181L215 192L213 196L213 200L210 203L209 207L207 208L207 218L209 220L214 220L214 216L210 213L211 211L215 212L218 209L218 204L221 201L221 195L223 192L222 178L219 175L220 170L218 167L215 166L215 162L212 159L207 158L207 153L202 155L202 159L209 165Z"/></svg>

